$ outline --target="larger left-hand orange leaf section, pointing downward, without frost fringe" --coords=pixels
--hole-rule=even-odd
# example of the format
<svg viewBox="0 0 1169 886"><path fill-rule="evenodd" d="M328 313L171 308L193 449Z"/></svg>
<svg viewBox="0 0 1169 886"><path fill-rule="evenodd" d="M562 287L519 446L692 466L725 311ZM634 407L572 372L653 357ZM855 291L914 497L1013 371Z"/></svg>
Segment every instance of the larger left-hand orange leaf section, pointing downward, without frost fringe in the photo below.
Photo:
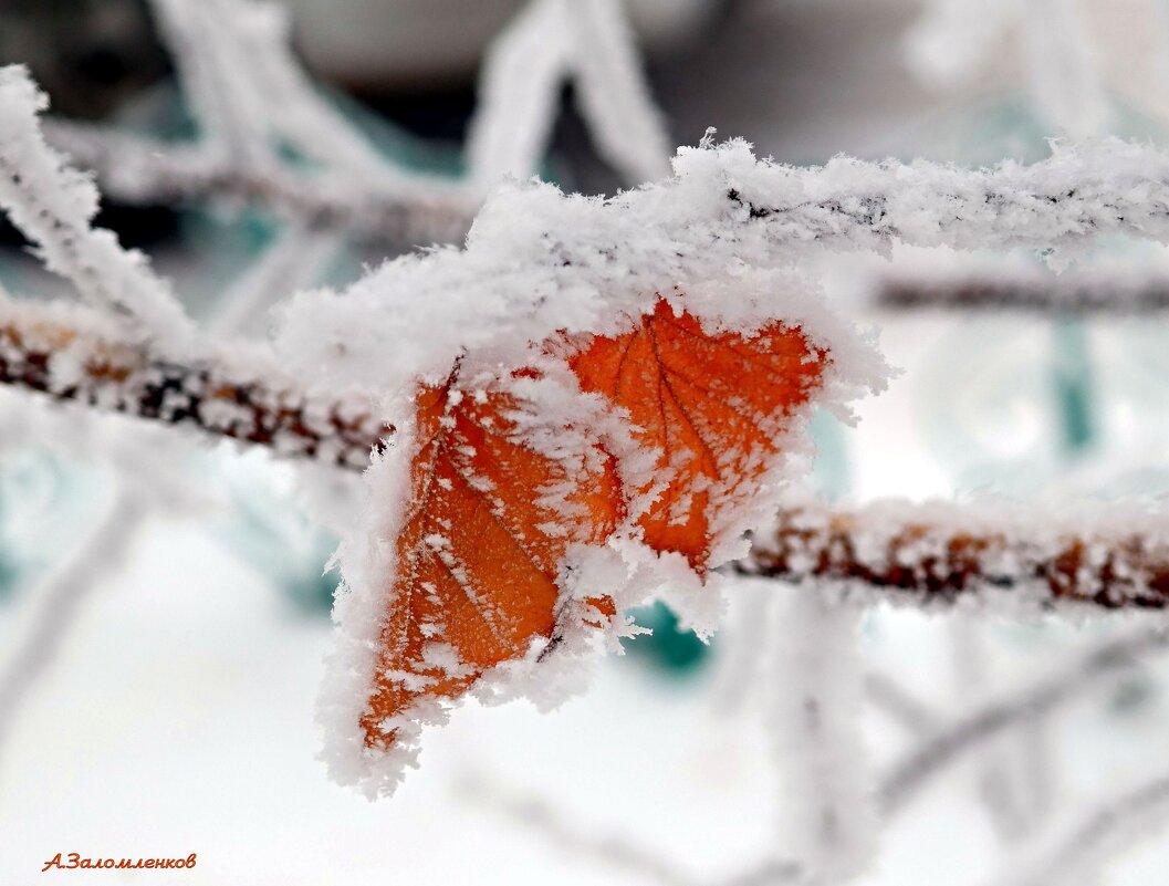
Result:
<svg viewBox="0 0 1169 886"><path fill-rule="evenodd" d="M454 380L416 396L411 497L361 718L367 747L392 747L395 718L417 701L455 698L551 638L568 547L603 541L621 519L614 458L596 444L537 451L517 427L525 406L498 385ZM611 601L589 602L613 614Z"/></svg>

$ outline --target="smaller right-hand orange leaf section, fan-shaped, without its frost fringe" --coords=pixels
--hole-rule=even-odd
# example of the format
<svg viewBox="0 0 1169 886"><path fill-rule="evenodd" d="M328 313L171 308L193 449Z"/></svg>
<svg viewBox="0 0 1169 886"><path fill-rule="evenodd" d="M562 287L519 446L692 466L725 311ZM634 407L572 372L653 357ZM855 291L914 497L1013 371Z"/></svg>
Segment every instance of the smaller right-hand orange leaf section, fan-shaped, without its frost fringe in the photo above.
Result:
<svg viewBox="0 0 1169 886"><path fill-rule="evenodd" d="M662 299L634 330L592 337L568 362L583 390L625 409L634 437L659 451L666 486L638 520L645 542L704 574L714 534L756 491L829 358L783 323L711 334Z"/></svg>

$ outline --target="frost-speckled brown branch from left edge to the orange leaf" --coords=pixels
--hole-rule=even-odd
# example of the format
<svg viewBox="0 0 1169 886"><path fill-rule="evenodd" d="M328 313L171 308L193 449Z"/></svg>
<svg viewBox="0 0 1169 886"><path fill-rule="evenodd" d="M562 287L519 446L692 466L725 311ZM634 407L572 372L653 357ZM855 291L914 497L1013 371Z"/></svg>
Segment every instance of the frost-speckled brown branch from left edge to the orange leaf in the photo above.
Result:
<svg viewBox="0 0 1169 886"><path fill-rule="evenodd" d="M63 307L0 302L0 383L354 470L393 435L364 394L304 390L261 353L175 361Z"/></svg>

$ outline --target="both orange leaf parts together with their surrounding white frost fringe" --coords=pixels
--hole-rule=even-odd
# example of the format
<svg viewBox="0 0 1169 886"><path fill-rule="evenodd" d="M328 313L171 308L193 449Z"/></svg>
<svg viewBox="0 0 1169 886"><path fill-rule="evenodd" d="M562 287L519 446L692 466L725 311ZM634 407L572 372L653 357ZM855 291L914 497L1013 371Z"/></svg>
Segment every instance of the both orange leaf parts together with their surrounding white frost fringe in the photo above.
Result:
<svg viewBox="0 0 1169 886"><path fill-rule="evenodd" d="M444 383L388 401L408 415L341 552L334 777L392 791L464 694L559 704L651 595L713 632L708 573L774 519L812 402L839 409L858 367L884 372L817 296L776 274L675 286L595 333L528 339L520 369L468 348Z"/></svg>

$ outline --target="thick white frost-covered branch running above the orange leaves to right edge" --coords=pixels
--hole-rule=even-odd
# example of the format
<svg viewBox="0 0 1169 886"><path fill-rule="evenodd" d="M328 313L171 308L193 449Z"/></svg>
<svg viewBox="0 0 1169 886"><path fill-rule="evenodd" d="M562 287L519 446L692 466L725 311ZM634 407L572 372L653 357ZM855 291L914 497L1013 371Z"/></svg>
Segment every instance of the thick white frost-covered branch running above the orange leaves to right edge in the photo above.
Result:
<svg viewBox="0 0 1169 886"><path fill-rule="evenodd" d="M330 378L352 380L360 367L393 387L419 372L441 378L464 351L556 330L610 334L646 293L746 269L783 271L810 250L1040 248L1065 262L1109 234L1169 237L1169 157L1119 140L973 171L849 158L795 168L756 159L743 141L704 143L682 148L673 168L671 179L608 200L549 185L500 188L465 249L390 262L344 297L300 296L278 345ZM733 311L733 295L722 299L719 310ZM424 352L381 346L419 328L434 331ZM341 341L344 361L332 358Z"/></svg>

